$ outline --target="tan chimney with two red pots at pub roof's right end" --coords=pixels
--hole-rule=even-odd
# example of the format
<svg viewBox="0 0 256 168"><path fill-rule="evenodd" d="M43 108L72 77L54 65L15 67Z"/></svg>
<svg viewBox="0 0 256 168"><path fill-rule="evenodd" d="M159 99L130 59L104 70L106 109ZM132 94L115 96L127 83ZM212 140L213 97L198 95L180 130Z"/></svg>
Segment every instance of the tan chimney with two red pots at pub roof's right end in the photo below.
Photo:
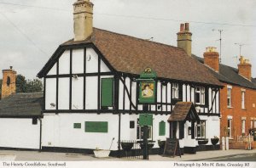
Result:
<svg viewBox="0 0 256 168"><path fill-rule="evenodd" d="M177 32L177 48L183 48L189 56L191 56L191 36L189 23L180 24L180 31Z"/></svg>

